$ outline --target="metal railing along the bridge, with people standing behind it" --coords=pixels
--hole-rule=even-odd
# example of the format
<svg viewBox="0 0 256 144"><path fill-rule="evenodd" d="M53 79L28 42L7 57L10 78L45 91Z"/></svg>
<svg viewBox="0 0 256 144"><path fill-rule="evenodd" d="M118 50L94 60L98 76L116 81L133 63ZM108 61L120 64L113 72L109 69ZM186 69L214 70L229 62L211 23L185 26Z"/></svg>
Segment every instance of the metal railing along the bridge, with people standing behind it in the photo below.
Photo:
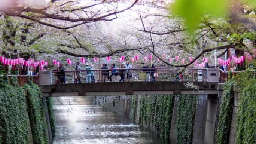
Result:
<svg viewBox="0 0 256 144"><path fill-rule="evenodd" d="M125 81L204 81L206 68L116 68L51 71L52 84Z"/></svg>

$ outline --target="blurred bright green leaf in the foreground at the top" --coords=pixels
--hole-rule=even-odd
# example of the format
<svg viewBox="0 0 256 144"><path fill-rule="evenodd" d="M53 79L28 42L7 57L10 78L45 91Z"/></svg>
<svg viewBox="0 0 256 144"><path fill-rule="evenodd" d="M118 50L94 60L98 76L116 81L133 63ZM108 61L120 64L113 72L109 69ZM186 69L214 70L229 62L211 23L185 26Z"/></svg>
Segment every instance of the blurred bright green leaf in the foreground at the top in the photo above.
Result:
<svg viewBox="0 0 256 144"><path fill-rule="evenodd" d="M227 14L228 6L229 0L175 0L170 11L184 18L186 27L193 32L205 13L222 17Z"/></svg>

